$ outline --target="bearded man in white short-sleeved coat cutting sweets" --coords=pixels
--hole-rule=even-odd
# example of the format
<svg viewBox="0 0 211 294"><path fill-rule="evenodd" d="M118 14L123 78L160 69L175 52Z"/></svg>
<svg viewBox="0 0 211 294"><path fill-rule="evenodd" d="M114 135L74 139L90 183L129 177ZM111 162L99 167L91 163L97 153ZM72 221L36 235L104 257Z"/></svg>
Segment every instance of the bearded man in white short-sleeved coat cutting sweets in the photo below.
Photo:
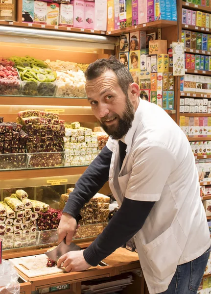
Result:
<svg viewBox="0 0 211 294"><path fill-rule="evenodd" d="M189 142L163 109L141 100L139 86L116 60L86 72L88 100L110 135L65 206L59 242L70 244L75 217L109 179L119 210L83 251L63 255L67 271L86 270L134 237L150 294L196 293L207 265L210 233Z"/></svg>

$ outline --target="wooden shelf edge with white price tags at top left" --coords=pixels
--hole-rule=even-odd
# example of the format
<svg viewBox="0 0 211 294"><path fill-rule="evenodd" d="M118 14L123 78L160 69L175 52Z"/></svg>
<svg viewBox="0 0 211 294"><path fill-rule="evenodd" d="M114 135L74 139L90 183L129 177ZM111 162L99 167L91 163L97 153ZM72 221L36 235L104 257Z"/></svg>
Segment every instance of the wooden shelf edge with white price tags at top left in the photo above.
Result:
<svg viewBox="0 0 211 294"><path fill-rule="evenodd" d="M67 27L67 26L58 26L58 25L40 25L40 24L29 24L29 23L20 23L20 22L9 22L9 21L0 21L0 25L10 25L10 26L19 26L19 27L28 27L28 28L44 28L49 30L56 31L65 31L65 32L74 32L74 33L87 33L87 34L96 34L96 35L105 35L105 31L98 31L94 29L87 28L77 28L77 27Z"/></svg>

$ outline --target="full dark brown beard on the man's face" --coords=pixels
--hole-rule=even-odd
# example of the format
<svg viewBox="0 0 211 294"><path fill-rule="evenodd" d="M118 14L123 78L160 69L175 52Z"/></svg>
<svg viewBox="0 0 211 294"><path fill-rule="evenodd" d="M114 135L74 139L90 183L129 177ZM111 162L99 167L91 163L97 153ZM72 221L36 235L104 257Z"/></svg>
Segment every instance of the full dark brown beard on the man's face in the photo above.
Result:
<svg viewBox="0 0 211 294"><path fill-rule="evenodd" d="M103 122L100 122L101 127L104 131L111 136L112 139L119 140L124 135L127 134L129 129L132 126L132 122L134 120L134 108L132 103L130 102L129 98L126 97L126 105L122 117L117 114L114 114L112 117L105 116L103 120L111 120L113 118L117 118L117 126L114 127L113 125L107 126Z"/></svg>

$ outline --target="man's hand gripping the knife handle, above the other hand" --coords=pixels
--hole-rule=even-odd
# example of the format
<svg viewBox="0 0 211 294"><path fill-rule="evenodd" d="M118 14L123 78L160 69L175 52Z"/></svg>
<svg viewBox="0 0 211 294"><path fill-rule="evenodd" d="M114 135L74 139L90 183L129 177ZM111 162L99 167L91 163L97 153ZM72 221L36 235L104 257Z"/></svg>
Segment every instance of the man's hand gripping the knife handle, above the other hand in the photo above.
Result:
<svg viewBox="0 0 211 294"><path fill-rule="evenodd" d="M64 212L58 227L58 243L61 243L66 237L66 244L70 245L72 237L77 232L79 226L80 225L77 225L76 220L72 216Z"/></svg>

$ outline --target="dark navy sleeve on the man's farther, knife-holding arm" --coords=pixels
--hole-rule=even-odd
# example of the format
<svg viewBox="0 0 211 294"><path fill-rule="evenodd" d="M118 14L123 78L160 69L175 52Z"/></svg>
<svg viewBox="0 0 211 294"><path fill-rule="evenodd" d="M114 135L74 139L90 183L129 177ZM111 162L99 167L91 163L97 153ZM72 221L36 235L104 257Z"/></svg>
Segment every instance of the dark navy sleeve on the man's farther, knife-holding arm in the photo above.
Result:
<svg viewBox="0 0 211 294"><path fill-rule="evenodd" d="M75 218L84 204L103 187L108 181L111 157L112 151L106 146L103 147L99 155L76 182L63 212L67 212Z"/></svg>

